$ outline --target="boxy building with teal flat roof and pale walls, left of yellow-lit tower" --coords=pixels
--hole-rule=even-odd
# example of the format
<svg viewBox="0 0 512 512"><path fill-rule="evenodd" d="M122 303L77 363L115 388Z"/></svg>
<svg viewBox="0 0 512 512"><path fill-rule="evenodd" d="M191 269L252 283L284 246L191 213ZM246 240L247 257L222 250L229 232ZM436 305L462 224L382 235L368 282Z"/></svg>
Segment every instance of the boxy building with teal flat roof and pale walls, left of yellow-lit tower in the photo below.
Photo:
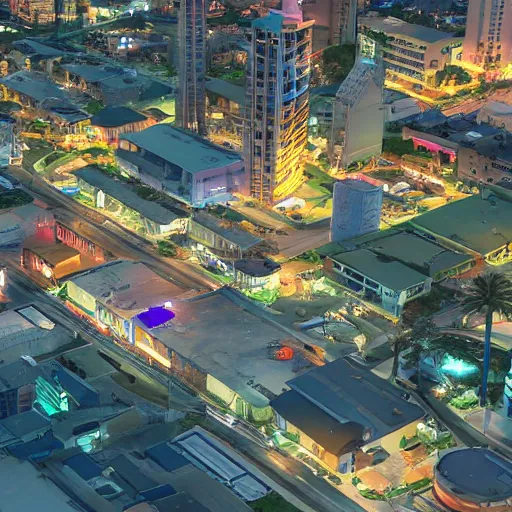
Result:
<svg viewBox="0 0 512 512"><path fill-rule="evenodd" d="M122 135L116 158L131 176L191 205L248 194L240 155L168 124Z"/></svg>

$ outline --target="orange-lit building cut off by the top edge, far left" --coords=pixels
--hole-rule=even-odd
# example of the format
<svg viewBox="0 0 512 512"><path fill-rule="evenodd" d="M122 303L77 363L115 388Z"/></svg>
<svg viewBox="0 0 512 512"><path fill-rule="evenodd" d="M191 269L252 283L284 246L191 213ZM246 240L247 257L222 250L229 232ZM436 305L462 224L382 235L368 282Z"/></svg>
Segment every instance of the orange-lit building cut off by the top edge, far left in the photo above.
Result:
<svg viewBox="0 0 512 512"><path fill-rule="evenodd" d="M76 0L10 0L11 15L29 25L52 25L56 22L55 7L60 20L76 19Z"/></svg>

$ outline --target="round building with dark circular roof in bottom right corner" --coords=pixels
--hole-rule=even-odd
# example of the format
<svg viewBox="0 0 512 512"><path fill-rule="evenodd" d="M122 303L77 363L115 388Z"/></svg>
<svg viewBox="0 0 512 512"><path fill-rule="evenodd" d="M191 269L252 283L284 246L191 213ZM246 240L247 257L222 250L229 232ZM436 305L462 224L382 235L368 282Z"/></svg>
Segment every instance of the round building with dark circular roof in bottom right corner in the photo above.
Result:
<svg viewBox="0 0 512 512"><path fill-rule="evenodd" d="M512 463L487 448L444 455L435 469L434 492L457 512L512 510Z"/></svg>

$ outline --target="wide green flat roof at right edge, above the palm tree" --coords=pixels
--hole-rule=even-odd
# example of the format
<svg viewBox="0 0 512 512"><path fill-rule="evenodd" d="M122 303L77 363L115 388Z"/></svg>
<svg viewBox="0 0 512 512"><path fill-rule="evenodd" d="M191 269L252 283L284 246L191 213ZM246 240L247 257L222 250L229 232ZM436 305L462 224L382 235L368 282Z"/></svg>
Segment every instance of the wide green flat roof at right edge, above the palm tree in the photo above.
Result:
<svg viewBox="0 0 512 512"><path fill-rule="evenodd" d="M413 219L411 225L481 255L512 242L512 203L494 195L454 201Z"/></svg>

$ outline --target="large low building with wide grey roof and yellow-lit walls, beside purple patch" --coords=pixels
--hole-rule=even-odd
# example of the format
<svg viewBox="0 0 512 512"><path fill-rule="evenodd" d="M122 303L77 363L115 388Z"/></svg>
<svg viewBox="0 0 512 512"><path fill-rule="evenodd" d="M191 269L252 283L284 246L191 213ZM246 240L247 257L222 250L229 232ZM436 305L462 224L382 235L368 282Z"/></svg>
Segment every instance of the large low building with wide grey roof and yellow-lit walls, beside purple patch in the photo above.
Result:
<svg viewBox="0 0 512 512"><path fill-rule="evenodd" d="M241 417L268 422L270 400L301 368L304 343L251 304L238 292L224 288L175 301L175 317L167 325L148 328L137 322L135 346ZM212 327L224 323L229 328ZM278 361L273 356L275 347L285 343L295 347L295 357Z"/></svg>

